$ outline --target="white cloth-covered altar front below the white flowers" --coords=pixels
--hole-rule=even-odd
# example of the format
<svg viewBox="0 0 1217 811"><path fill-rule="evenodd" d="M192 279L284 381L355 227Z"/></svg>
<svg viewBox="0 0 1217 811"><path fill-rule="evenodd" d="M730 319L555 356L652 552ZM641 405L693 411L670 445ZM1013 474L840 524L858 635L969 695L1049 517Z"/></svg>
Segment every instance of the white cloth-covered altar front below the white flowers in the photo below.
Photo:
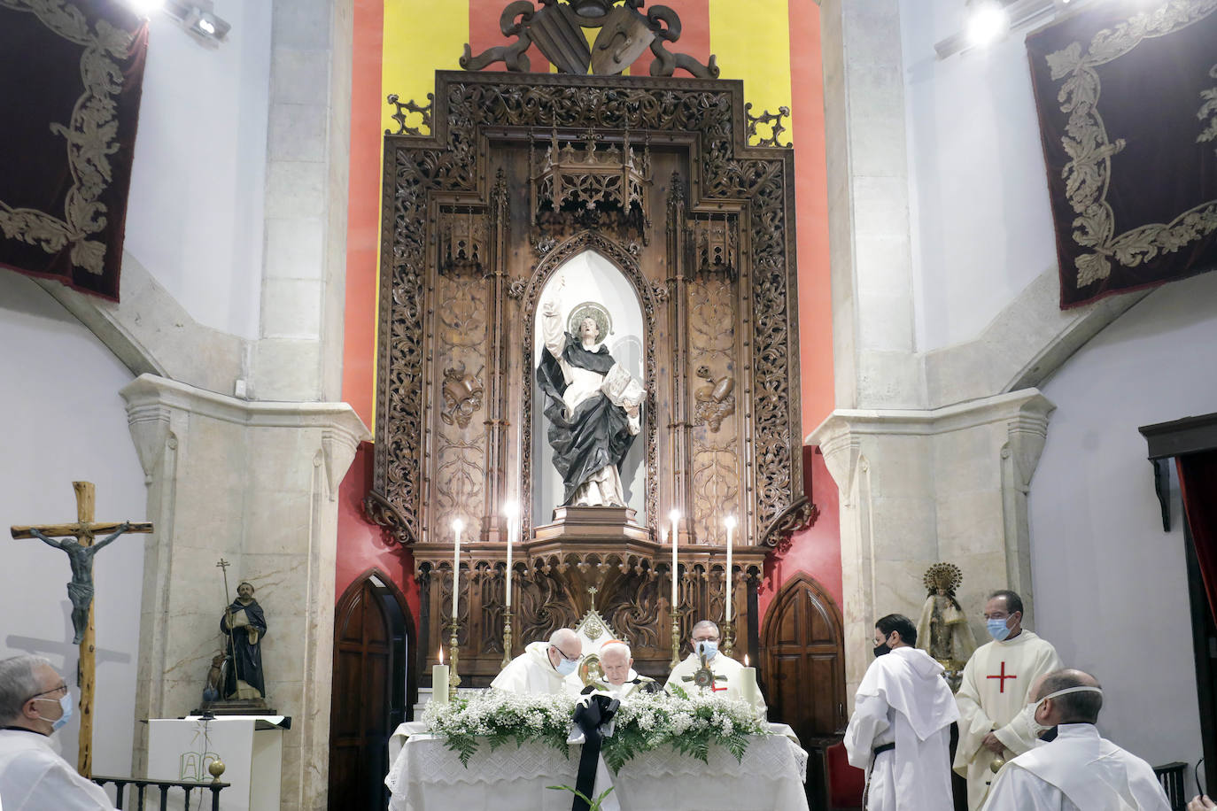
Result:
<svg viewBox="0 0 1217 811"><path fill-rule="evenodd" d="M466 768L442 738L411 734L385 779L389 810L567 811L572 794L545 787L574 785L581 750L572 743L563 756L533 742L492 753L483 742ZM806 768L807 753L789 738L753 736L741 762L718 745L708 764L667 748L638 755L616 776L601 761L594 793L615 787L606 811L806 811Z"/></svg>

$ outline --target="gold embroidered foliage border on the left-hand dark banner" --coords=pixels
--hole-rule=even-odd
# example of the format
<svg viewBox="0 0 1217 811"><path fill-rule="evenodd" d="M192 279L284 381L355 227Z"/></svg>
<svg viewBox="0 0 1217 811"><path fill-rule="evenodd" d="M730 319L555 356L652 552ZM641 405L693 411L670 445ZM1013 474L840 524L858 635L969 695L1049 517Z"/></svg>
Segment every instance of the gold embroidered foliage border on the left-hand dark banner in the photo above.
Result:
<svg viewBox="0 0 1217 811"><path fill-rule="evenodd" d="M100 276L106 244L89 237L106 229L107 208L100 197L111 181L110 156L119 148L117 96L123 90L123 72L118 60L130 53L134 36L105 19L90 29L84 13L67 0L0 0L0 6L30 12L55 34L83 45L80 79L85 89L68 125L51 124L51 131L67 141L73 180L63 203L65 219L0 201L0 231L49 254L71 246L72 264Z"/></svg>

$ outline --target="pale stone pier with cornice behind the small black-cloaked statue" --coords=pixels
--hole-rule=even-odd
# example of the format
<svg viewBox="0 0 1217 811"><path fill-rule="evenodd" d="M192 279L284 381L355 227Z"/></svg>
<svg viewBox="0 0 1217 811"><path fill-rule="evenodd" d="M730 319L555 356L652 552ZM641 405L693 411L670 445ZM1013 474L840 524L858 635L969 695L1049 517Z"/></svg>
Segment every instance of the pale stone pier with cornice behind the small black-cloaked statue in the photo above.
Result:
<svg viewBox="0 0 1217 811"><path fill-rule="evenodd" d="M229 587L251 581L267 613L268 703L292 716L284 811L325 807L337 495L370 439L350 406L249 402L142 374L122 390L156 524L144 563L135 713L198 706ZM147 764L136 723L134 768Z"/></svg>

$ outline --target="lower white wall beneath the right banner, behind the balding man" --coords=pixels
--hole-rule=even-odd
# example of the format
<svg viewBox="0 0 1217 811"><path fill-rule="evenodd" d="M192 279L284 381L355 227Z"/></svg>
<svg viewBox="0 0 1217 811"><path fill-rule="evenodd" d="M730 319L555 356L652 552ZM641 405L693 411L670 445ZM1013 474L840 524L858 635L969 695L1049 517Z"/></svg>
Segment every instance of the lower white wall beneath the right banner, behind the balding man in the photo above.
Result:
<svg viewBox="0 0 1217 811"><path fill-rule="evenodd" d="M1215 299L1217 274L1157 289L1043 387L1056 412L1030 495L1036 631L1103 683L1104 734L1154 765L1195 765L1200 722L1180 506L1163 533L1137 428L1217 411Z"/></svg>

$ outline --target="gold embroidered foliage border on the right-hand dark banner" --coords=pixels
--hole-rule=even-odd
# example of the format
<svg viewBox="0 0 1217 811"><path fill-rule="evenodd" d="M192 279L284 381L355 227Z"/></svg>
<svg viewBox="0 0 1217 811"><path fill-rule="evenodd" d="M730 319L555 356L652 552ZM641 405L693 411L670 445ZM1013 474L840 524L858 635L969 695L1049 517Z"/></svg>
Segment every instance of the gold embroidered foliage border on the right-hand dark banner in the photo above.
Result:
<svg viewBox="0 0 1217 811"><path fill-rule="evenodd" d="M1135 267L1162 253L1173 253L1217 230L1217 199L1201 203L1170 223L1152 223L1116 233L1115 216L1106 201L1111 180L1111 157L1125 148L1125 140L1107 137L1099 113L1100 80L1095 68L1123 56L1142 40L1165 36L1199 22L1217 10L1217 0L1171 0L1159 9L1134 15L1112 28L1097 33L1087 51L1081 43L1049 53L1045 58L1054 80L1065 79L1056 100L1069 114L1061 146L1070 160L1061 169L1066 196L1077 214L1073 240L1093 249L1077 257L1077 285L1083 287L1111 275L1111 260ZM1217 94L1217 91L1212 91ZM1207 92L1205 94L1207 98ZM1210 100L1201 108L1217 108ZM1217 128L1215 119L1213 128ZM1217 134L1217 133L1215 133Z"/></svg>

